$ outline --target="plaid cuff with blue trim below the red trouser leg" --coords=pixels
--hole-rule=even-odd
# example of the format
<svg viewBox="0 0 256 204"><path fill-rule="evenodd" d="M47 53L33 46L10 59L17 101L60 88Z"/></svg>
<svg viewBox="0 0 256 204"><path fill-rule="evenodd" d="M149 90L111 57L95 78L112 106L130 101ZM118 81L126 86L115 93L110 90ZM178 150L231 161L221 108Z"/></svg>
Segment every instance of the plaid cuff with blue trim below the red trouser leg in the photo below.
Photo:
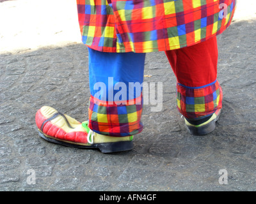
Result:
<svg viewBox="0 0 256 204"><path fill-rule="evenodd" d="M177 84L177 108L187 119L207 117L222 108L222 90L216 80L204 87Z"/></svg>

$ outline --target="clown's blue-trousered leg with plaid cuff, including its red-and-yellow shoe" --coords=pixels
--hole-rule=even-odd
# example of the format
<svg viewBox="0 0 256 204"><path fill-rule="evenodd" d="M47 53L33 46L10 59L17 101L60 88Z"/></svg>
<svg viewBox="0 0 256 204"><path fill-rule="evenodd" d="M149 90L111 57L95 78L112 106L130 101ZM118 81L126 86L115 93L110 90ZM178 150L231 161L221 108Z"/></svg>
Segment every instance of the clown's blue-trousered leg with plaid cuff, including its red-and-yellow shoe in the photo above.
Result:
<svg viewBox="0 0 256 204"><path fill-rule="evenodd" d="M97 148L104 153L131 150L133 135L143 129L144 62L145 54L104 53L89 48L89 120L81 123L43 106L36 112L39 135L52 143ZM134 87L136 83L139 85Z"/></svg>

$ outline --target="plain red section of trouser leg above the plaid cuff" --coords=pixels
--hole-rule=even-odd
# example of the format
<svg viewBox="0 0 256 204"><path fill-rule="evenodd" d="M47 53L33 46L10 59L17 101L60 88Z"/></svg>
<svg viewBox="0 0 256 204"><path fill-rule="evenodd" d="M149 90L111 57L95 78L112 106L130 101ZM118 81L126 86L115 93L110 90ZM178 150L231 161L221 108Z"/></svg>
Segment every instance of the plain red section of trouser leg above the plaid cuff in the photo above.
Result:
<svg viewBox="0 0 256 204"><path fill-rule="evenodd" d="M211 84L217 78L216 37L191 47L166 51L177 82L188 87Z"/></svg>

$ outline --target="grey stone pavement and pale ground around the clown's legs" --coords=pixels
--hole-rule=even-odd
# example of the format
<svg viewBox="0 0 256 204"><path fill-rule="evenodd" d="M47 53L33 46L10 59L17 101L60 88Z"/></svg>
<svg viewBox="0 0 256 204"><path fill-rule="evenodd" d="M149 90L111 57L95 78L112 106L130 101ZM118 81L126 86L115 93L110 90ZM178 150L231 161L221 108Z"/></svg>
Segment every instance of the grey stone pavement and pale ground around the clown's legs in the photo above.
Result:
<svg viewBox="0 0 256 204"><path fill-rule="evenodd" d="M16 13L31 1L1 2L0 11ZM145 105L145 128L135 136L134 149L116 154L54 145L36 132L35 113L43 105L86 120L88 52L74 40L77 33L65 40L58 34L68 29L52 26L51 32L45 32L47 38L52 34L56 44L40 41L44 37L38 33L40 20L44 28L47 20L38 17L32 33L38 34L38 44L29 47L29 41L22 42L20 37L26 36L23 28L28 25L17 25L16 30L11 27L12 36L0 26L0 190L255 191L256 18L240 18L248 14L241 8L251 7L237 8L232 25L218 36L218 80L224 100L216 130L207 136L189 135L175 108L175 77L170 65L163 52L150 53L145 64L145 75L150 77L145 82L163 82L163 109L151 112L155 105ZM8 21L0 19L2 25ZM68 26L74 21L69 22ZM11 41L15 43L8 47ZM228 184L219 183L223 169ZM35 183L29 180L33 172Z"/></svg>

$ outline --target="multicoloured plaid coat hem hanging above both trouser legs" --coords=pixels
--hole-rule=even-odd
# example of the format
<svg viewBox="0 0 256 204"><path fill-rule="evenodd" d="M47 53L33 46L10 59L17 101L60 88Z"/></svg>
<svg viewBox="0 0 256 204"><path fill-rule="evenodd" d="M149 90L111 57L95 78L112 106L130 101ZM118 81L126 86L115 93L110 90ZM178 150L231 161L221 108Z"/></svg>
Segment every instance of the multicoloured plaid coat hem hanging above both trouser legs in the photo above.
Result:
<svg viewBox="0 0 256 204"><path fill-rule="evenodd" d="M235 7L236 0L77 0L82 41L103 52L195 45L225 31Z"/></svg>

